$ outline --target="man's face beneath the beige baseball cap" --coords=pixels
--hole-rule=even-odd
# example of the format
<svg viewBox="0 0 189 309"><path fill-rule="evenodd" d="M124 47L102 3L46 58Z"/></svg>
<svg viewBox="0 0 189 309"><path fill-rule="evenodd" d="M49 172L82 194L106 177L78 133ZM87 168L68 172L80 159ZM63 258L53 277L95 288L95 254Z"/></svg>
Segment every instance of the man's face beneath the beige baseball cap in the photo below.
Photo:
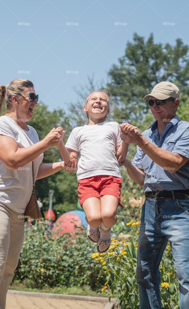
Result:
<svg viewBox="0 0 189 309"><path fill-rule="evenodd" d="M151 100L156 100L157 98L151 97ZM175 111L178 108L179 105L179 99L175 99L172 101L166 101L164 105L156 105L154 103L153 106L150 106L150 110L157 121L169 121L169 119L172 119L175 115Z"/></svg>

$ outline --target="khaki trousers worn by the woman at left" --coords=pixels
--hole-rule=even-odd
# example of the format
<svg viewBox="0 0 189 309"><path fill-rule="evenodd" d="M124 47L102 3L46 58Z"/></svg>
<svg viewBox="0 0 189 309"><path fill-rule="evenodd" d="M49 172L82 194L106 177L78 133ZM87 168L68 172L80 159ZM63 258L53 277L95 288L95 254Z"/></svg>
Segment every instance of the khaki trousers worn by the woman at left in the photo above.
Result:
<svg viewBox="0 0 189 309"><path fill-rule="evenodd" d="M23 214L0 204L0 309L5 309L6 293L18 265L23 241Z"/></svg>

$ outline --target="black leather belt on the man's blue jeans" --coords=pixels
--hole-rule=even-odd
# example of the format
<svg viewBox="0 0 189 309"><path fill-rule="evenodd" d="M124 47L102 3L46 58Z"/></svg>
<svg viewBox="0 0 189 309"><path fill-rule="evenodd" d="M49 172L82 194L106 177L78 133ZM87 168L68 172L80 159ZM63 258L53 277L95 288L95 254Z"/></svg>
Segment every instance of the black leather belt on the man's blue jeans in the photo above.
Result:
<svg viewBox="0 0 189 309"><path fill-rule="evenodd" d="M145 193L145 197L157 198L173 198L187 200L189 199L189 189L187 190L172 190L172 191L149 191Z"/></svg>

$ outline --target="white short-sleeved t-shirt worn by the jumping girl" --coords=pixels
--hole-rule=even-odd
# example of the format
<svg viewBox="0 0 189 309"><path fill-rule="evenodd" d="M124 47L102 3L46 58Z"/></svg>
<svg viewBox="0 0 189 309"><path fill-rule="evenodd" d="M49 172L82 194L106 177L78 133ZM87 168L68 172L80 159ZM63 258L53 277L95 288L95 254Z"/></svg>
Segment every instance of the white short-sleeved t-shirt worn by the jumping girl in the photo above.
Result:
<svg viewBox="0 0 189 309"><path fill-rule="evenodd" d="M121 177L115 156L115 147L121 143L119 125L114 121L74 128L65 146L81 155L77 180L97 175Z"/></svg>

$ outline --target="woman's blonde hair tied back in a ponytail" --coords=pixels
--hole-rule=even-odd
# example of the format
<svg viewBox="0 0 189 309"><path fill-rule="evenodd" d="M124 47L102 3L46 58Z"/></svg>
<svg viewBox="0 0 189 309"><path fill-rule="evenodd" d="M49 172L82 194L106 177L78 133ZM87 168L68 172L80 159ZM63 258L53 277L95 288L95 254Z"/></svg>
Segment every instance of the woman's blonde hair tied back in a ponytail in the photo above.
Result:
<svg viewBox="0 0 189 309"><path fill-rule="evenodd" d="M26 88L34 88L33 83L28 79L17 78L11 81L7 86L0 86L0 114L5 102L6 110L12 108L12 96L19 96L24 93Z"/></svg>

